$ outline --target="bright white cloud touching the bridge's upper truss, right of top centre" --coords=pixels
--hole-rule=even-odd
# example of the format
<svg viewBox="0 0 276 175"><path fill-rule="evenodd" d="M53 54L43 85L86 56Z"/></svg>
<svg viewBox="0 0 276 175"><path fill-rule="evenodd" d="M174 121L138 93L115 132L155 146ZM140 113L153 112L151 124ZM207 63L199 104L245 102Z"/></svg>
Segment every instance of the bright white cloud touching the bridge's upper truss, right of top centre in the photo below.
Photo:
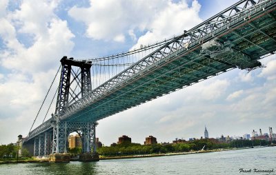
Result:
<svg viewBox="0 0 276 175"><path fill-rule="evenodd" d="M166 8L160 10L148 27L148 32L139 37L137 44L132 49L139 48L140 45L148 45L152 41L168 39L174 34L181 34L184 30L189 30L201 22L199 18L200 5L193 1L188 7L186 1L172 3L168 1Z"/></svg>

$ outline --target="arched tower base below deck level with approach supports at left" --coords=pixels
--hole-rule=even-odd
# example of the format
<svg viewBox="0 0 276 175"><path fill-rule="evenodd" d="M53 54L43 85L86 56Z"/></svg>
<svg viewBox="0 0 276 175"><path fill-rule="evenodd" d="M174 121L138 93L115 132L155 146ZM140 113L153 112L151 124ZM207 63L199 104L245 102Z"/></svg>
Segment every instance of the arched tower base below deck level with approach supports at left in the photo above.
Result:
<svg viewBox="0 0 276 175"><path fill-rule="evenodd" d="M23 146L29 148L28 151L34 156L67 153L68 136L72 132L77 132L81 137L82 152L95 153L96 126L97 123L60 121L46 132L23 143ZM29 146L30 143L33 143L32 147Z"/></svg>

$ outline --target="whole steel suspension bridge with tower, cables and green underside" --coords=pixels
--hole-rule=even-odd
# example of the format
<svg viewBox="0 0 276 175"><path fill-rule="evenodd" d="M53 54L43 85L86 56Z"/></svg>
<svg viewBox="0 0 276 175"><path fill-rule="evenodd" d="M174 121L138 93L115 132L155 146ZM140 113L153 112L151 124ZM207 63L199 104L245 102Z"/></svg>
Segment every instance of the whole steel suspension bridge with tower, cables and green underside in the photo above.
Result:
<svg viewBox="0 0 276 175"><path fill-rule="evenodd" d="M100 119L235 68L262 67L258 60L276 51L275 9L276 0L242 0L165 41L95 59L64 56L55 112L23 145L34 156L66 153L77 132L83 153L95 153Z"/></svg>

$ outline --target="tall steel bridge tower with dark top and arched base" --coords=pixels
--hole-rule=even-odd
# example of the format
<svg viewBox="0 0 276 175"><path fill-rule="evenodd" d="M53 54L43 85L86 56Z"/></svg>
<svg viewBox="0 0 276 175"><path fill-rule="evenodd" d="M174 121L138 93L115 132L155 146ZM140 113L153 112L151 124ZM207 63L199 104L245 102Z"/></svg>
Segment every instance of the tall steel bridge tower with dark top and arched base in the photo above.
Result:
<svg viewBox="0 0 276 175"><path fill-rule="evenodd" d="M61 121L60 116L66 112L66 109L70 103L75 103L75 101L81 99L81 97L91 91L91 63L88 61L74 61L72 58L67 59L67 57L64 56L61 59L61 65L62 70L59 84L59 94L57 96L57 107L55 115L52 116L52 153L67 152L68 136L71 132L76 131L81 132L81 138L83 143L85 143L83 150L85 150L85 152L90 152L88 149L91 148L90 133L92 132L91 128L93 128L92 124ZM72 70L72 66L78 67L81 71L75 72ZM70 79L71 77L72 80ZM74 83L75 88L72 87ZM75 90L77 88L81 88L81 91L76 92Z"/></svg>

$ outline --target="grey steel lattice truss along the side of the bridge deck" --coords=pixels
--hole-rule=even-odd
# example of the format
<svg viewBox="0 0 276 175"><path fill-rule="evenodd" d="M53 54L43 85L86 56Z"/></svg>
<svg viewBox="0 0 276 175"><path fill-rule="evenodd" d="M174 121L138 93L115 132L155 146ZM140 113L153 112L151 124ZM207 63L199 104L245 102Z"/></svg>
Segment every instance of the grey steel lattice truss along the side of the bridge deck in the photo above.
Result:
<svg viewBox="0 0 276 175"><path fill-rule="evenodd" d="M106 94L111 94L126 83L137 79L139 76L143 76L143 74L146 74L157 66L162 66L167 61L175 59L178 55L195 50L195 48L200 47L202 43L210 41L210 39L214 39L215 37L220 39L225 33L228 33L228 30L235 30L235 28L243 26L244 23L257 18L258 15L263 15L264 10L270 10L270 8L275 8L275 1L241 1L237 3L235 7L226 10L228 15L226 15L226 11L224 10L223 14L216 15L212 20L209 19L200 26L185 32L180 37L176 37L175 40L166 43L163 47L110 79L110 81L103 83L99 88L90 92L88 96L80 99L78 103L70 105L66 114L61 118L66 119L72 116L72 114L83 111L88 105L102 99ZM237 50L236 52L240 51ZM259 55L255 56L255 58L259 59ZM242 65L242 63L238 64L240 68L246 68L246 65Z"/></svg>

